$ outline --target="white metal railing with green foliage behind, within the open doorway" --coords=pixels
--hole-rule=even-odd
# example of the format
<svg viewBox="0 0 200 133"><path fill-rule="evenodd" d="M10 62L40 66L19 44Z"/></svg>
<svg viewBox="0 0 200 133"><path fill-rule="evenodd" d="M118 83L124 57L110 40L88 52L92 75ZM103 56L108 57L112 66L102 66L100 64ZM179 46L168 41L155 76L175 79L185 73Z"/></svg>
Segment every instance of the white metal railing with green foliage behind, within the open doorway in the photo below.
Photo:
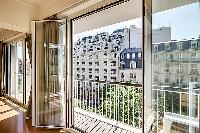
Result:
<svg viewBox="0 0 200 133"><path fill-rule="evenodd" d="M75 107L142 128L142 87L134 84L74 80Z"/></svg>

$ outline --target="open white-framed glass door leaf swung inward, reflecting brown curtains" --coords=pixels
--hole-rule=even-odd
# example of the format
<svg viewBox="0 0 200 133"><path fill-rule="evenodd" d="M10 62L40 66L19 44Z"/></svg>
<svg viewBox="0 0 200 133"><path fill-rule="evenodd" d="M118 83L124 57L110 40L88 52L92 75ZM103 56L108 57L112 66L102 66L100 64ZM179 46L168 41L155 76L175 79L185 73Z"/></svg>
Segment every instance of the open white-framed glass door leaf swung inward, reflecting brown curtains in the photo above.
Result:
<svg viewBox="0 0 200 133"><path fill-rule="evenodd" d="M33 126L65 126L65 21L33 22Z"/></svg>

